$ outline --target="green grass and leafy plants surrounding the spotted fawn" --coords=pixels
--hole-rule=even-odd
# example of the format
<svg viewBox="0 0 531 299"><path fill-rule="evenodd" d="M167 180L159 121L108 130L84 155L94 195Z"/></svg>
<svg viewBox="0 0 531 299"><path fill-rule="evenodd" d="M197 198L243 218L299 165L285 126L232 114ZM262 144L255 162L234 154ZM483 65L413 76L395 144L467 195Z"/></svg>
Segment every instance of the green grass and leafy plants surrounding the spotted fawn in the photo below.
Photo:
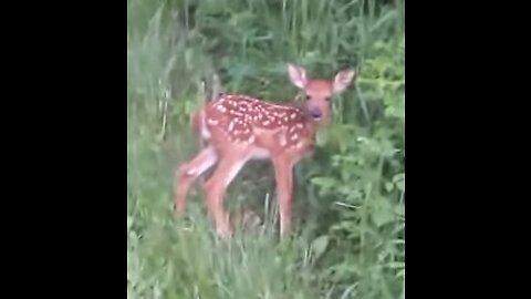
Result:
<svg viewBox="0 0 531 299"><path fill-rule="evenodd" d="M128 298L404 298L404 13L400 1L128 0ZM357 75L295 169L291 238L278 236L271 164L251 162L226 208L261 224L223 243L197 185L186 219L171 209L174 172L198 147L199 82L215 70L226 91L285 101L285 62Z"/></svg>

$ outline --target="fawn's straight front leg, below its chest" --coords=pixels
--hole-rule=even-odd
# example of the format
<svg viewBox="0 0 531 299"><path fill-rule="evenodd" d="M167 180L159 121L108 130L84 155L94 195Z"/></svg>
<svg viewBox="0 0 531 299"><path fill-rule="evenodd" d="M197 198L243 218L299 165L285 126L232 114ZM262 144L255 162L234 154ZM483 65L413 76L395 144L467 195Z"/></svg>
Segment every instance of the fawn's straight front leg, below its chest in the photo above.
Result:
<svg viewBox="0 0 531 299"><path fill-rule="evenodd" d="M277 182L277 200L280 209L280 233L291 229L291 208L293 194L293 163L288 156L273 158Z"/></svg>

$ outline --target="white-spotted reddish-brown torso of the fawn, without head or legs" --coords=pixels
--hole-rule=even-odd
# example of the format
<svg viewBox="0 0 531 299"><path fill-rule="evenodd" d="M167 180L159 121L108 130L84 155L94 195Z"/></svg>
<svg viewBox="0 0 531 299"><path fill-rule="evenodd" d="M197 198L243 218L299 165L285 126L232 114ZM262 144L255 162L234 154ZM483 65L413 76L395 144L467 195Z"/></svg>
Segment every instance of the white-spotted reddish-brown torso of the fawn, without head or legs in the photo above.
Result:
<svg viewBox="0 0 531 299"><path fill-rule="evenodd" d="M256 147L268 155L304 148L313 133L304 110L248 95L226 94L204 110L211 141L219 147ZM257 154L266 156L263 154Z"/></svg>

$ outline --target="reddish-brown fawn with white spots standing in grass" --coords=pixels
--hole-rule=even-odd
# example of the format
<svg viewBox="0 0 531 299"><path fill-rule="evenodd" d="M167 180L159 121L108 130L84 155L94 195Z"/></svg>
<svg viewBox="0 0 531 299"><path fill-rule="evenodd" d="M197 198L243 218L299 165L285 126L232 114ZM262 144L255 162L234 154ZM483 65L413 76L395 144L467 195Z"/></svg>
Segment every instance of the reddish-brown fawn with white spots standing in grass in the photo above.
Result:
<svg viewBox="0 0 531 299"><path fill-rule="evenodd" d="M293 167L312 154L317 127L331 117L331 99L344 91L354 78L353 70L340 71L332 81L310 79L306 71L288 64L291 83L305 102L272 103L243 94L221 94L194 115L192 124L202 144L200 152L176 173L175 209L184 213L191 183L216 163L205 182L207 205L217 233L231 236L223 210L228 185L250 159L270 158L274 167L281 235L291 228Z"/></svg>

